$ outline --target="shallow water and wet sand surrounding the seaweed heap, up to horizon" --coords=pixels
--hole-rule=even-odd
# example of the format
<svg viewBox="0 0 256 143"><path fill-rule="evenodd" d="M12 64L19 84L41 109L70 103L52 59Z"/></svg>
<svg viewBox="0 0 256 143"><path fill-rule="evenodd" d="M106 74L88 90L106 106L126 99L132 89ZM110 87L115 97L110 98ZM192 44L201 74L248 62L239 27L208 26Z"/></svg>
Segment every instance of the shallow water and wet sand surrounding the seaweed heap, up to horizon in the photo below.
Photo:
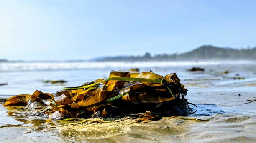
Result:
<svg viewBox="0 0 256 143"><path fill-rule="evenodd" d="M98 67L86 67L83 63L80 68L72 68L77 64L59 63L59 69L49 68L51 66L40 69L38 63L26 63L27 67L22 65L22 70L18 70L17 64L14 67L1 65L10 68L0 69L0 83L8 82L8 85L0 86L1 98L31 94L36 89L54 93L63 86L79 86L86 81L106 78L112 69L128 70L142 65L141 71L152 70L161 75L176 72L181 83L189 90L186 96L189 102L198 106L197 113L189 118L210 121L172 118L133 123L135 119L132 118L122 121L95 118L83 123L59 123L41 116L13 113L17 112L14 108L0 105L0 142L256 142L256 102L246 101L256 99L256 63L209 62L189 65L164 62L144 63L144 66L115 63L110 67L104 63L101 66L98 64ZM205 68L205 72L188 72L187 69L193 66ZM226 70L229 73L223 74ZM238 77L236 74L245 79L233 79ZM68 83L51 85L42 82L49 79L64 79Z"/></svg>

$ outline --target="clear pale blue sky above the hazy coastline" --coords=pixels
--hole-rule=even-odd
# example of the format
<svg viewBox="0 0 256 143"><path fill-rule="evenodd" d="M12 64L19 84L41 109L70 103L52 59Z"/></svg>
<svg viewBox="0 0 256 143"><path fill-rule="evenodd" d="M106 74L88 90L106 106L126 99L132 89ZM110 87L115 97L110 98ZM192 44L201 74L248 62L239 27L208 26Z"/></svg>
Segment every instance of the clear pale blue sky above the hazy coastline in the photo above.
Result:
<svg viewBox="0 0 256 143"><path fill-rule="evenodd" d="M256 46L255 0L0 0L0 59Z"/></svg>

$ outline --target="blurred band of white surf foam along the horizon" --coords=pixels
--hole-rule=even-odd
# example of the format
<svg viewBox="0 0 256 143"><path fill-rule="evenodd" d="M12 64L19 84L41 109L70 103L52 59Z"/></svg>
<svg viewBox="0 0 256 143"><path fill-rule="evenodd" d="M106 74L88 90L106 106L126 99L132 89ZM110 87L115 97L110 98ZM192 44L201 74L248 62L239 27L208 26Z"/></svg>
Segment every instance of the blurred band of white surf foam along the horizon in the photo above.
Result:
<svg viewBox="0 0 256 143"><path fill-rule="evenodd" d="M255 64L253 61L211 61L211 62L2 62L0 72L28 70L92 69L115 67L167 67L200 66L218 64Z"/></svg>

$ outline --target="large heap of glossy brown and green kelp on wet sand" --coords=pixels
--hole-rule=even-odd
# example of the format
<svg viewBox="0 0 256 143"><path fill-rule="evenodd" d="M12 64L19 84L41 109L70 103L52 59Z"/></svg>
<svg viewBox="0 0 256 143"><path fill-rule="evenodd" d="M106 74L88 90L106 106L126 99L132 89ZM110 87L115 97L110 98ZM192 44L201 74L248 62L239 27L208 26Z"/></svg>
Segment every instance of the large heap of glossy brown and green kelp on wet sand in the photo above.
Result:
<svg viewBox="0 0 256 143"><path fill-rule="evenodd" d="M55 95L36 90L32 95L13 96L4 106L35 111L33 115L48 116L52 120L140 116L146 121L195 113L184 98L186 94L187 89L175 73L163 77L151 71L112 71L108 79L65 87Z"/></svg>

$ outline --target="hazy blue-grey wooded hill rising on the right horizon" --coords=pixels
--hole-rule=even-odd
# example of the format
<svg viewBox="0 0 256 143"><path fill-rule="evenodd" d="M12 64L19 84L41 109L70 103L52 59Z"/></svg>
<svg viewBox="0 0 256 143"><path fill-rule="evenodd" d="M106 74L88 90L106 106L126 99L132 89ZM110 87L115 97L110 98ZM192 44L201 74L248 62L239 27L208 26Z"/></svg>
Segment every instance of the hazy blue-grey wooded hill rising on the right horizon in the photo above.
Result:
<svg viewBox="0 0 256 143"><path fill-rule="evenodd" d="M256 47L253 49L221 48L211 45L201 46L182 54L157 54L151 56L104 57L96 61L169 61L169 60L256 60Z"/></svg>

